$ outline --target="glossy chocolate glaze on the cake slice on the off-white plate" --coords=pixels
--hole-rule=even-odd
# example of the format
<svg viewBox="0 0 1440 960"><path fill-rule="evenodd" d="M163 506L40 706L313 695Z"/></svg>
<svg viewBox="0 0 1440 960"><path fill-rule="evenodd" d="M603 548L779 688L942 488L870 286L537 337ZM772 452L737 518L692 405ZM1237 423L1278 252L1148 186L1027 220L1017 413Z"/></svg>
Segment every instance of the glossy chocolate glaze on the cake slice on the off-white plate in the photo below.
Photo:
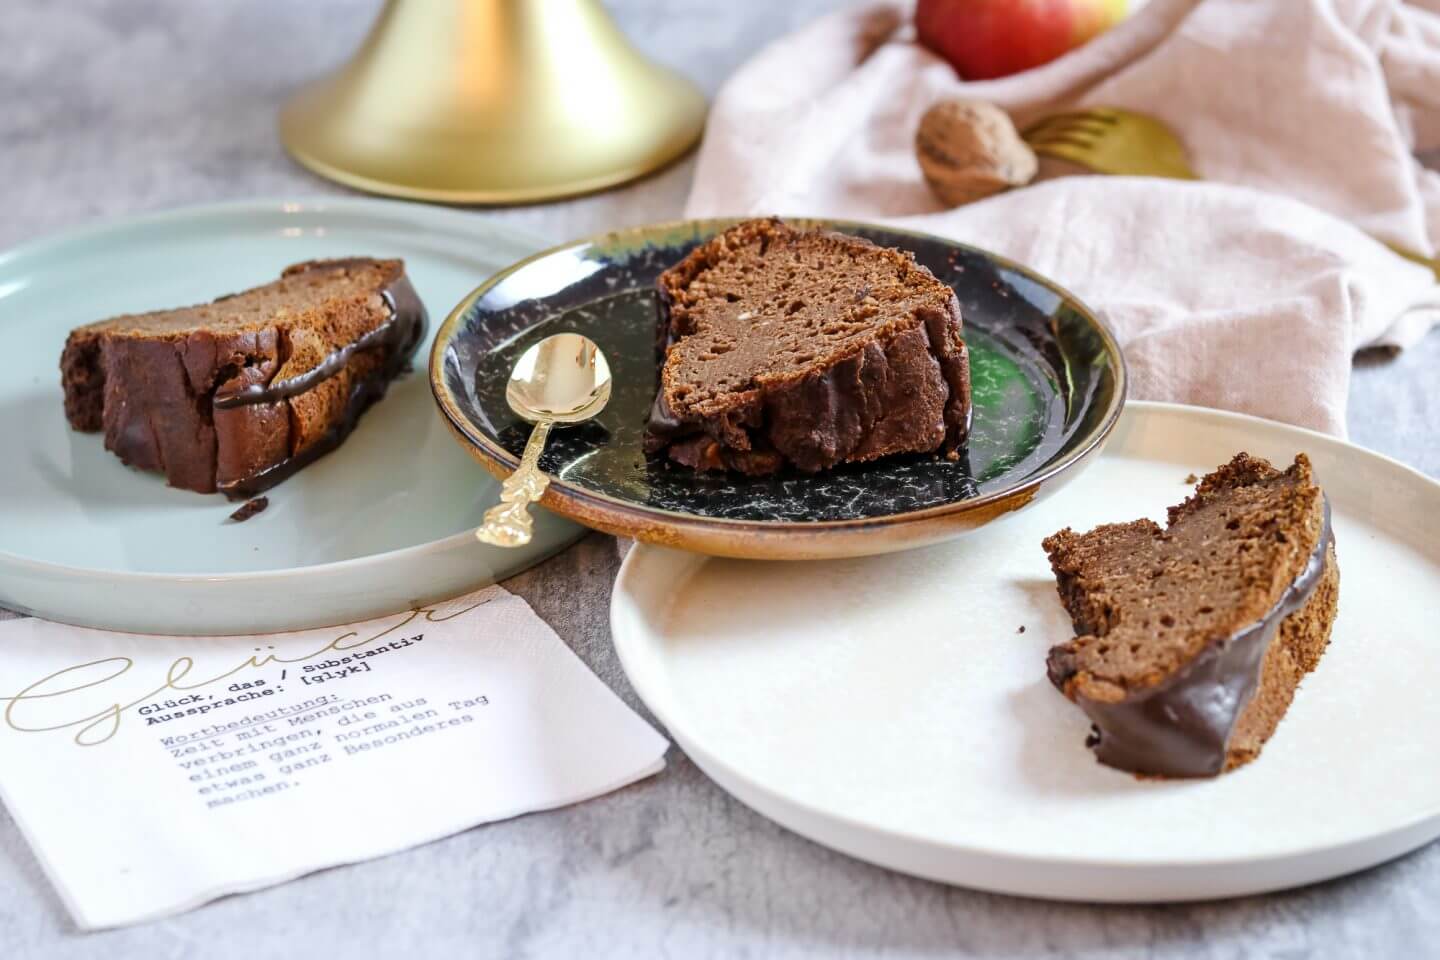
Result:
<svg viewBox="0 0 1440 960"><path fill-rule="evenodd" d="M1211 642L1164 682L1133 691L1119 702L1077 698L1077 705L1094 723L1087 746L1096 759L1120 770L1165 777L1221 773L1236 721L1260 687L1266 651L1280 623L1309 603L1333 543L1326 499L1325 525L1315 551L1260 620Z"/></svg>

